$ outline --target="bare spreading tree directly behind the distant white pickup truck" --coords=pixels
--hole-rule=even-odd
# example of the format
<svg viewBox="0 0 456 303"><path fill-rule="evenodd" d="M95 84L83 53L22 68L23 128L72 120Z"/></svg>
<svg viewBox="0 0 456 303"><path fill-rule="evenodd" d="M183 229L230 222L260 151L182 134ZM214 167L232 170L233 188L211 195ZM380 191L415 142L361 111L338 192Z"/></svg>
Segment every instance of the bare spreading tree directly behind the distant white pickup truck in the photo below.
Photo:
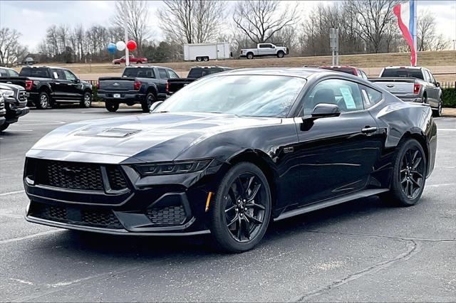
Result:
<svg viewBox="0 0 456 303"><path fill-rule="evenodd" d="M274 33L298 21L297 5L281 7L280 1L238 1L234 7L233 20L239 31L254 43L268 41Z"/></svg>

